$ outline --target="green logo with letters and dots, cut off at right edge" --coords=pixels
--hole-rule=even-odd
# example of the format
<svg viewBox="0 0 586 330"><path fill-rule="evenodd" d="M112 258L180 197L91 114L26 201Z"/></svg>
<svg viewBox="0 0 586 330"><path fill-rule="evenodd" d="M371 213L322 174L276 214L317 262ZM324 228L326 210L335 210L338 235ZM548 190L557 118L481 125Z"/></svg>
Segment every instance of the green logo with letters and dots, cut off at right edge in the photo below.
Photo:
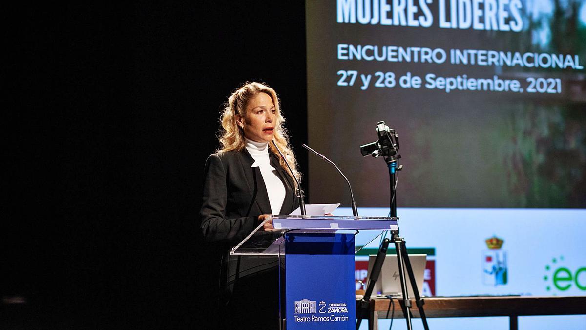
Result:
<svg viewBox="0 0 586 330"><path fill-rule="evenodd" d="M558 262L563 261L564 256L560 255L560 258L551 259L551 266L546 265L546 274L543 276L543 280L546 281L546 290L554 290L553 295L556 295L555 289L567 291L574 286L581 291L586 291L586 267L580 267L573 271L568 267L558 265Z"/></svg>

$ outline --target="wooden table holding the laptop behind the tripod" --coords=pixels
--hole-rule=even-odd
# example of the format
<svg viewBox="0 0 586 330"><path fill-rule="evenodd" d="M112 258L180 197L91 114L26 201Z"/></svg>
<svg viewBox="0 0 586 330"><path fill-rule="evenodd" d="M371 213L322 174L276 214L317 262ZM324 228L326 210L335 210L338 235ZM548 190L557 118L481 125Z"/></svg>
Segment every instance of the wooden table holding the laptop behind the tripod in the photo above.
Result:
<svg viewBox="0 0 586 330"><path fill-rule="evenodd" d="M517 329L517 316L586 314L585 297L444 297L425 298L424 311L428 318L458 318L477 316L509 316L509 328ZM394 318L403 318L403 310L394 299ZM411 299L411 314L419 318L419 310ZM390 301L370 300L369 329L377 329L379 319L387 318ZM389 311L389 318L393 311Z"/></svg>

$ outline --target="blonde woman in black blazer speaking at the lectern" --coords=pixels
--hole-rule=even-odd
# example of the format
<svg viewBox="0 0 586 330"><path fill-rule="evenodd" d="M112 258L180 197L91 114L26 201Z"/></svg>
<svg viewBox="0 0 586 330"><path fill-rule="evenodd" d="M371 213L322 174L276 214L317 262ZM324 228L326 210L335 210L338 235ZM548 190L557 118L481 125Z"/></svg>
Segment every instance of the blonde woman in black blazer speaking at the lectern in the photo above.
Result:
<svg viewBox="0 0 586 330"><path fill-rule="evenodd" d="M282 127L285 119L277 93L263 83L245 83L229 97L220 120L222 149L207 158L200 210L204 237L222 250L219 308L220 314L230 316L220 317L219 327L278 328L276 263L264 262L271 267L257 267L258 271L241 277L231 275L234 268L239 271L240 259L229 255L230 248L265 218L289 214L299 205L297 162ZM272 223L264 228L272 228Z"/></svg>

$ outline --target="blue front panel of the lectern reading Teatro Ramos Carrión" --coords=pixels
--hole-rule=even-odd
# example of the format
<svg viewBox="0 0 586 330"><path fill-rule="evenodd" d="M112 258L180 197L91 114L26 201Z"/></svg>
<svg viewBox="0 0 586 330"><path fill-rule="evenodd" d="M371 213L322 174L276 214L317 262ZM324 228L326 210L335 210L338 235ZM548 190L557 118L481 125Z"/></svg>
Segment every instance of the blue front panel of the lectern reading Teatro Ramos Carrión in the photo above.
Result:
<svg viewBox="0 0 586 330"><path fill-rule="evenodd" d="M354 234L285 234L287 329L355 329Z"/></svg>

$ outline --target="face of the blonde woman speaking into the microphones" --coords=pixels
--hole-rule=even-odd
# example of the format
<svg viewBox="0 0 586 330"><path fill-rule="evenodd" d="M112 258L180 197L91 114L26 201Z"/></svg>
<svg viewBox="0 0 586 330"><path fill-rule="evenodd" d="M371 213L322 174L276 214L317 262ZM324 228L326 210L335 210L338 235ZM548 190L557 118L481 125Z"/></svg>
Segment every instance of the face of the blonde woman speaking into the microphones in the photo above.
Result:
<svg viewBox="0 0 586 330"><path fill-rule="evenodd" d="M246 116L237 117L244 129L244 136L256 142L271 142L277 124L277 110L272 98L266 93L258 93L246 106Z"/></svg>

